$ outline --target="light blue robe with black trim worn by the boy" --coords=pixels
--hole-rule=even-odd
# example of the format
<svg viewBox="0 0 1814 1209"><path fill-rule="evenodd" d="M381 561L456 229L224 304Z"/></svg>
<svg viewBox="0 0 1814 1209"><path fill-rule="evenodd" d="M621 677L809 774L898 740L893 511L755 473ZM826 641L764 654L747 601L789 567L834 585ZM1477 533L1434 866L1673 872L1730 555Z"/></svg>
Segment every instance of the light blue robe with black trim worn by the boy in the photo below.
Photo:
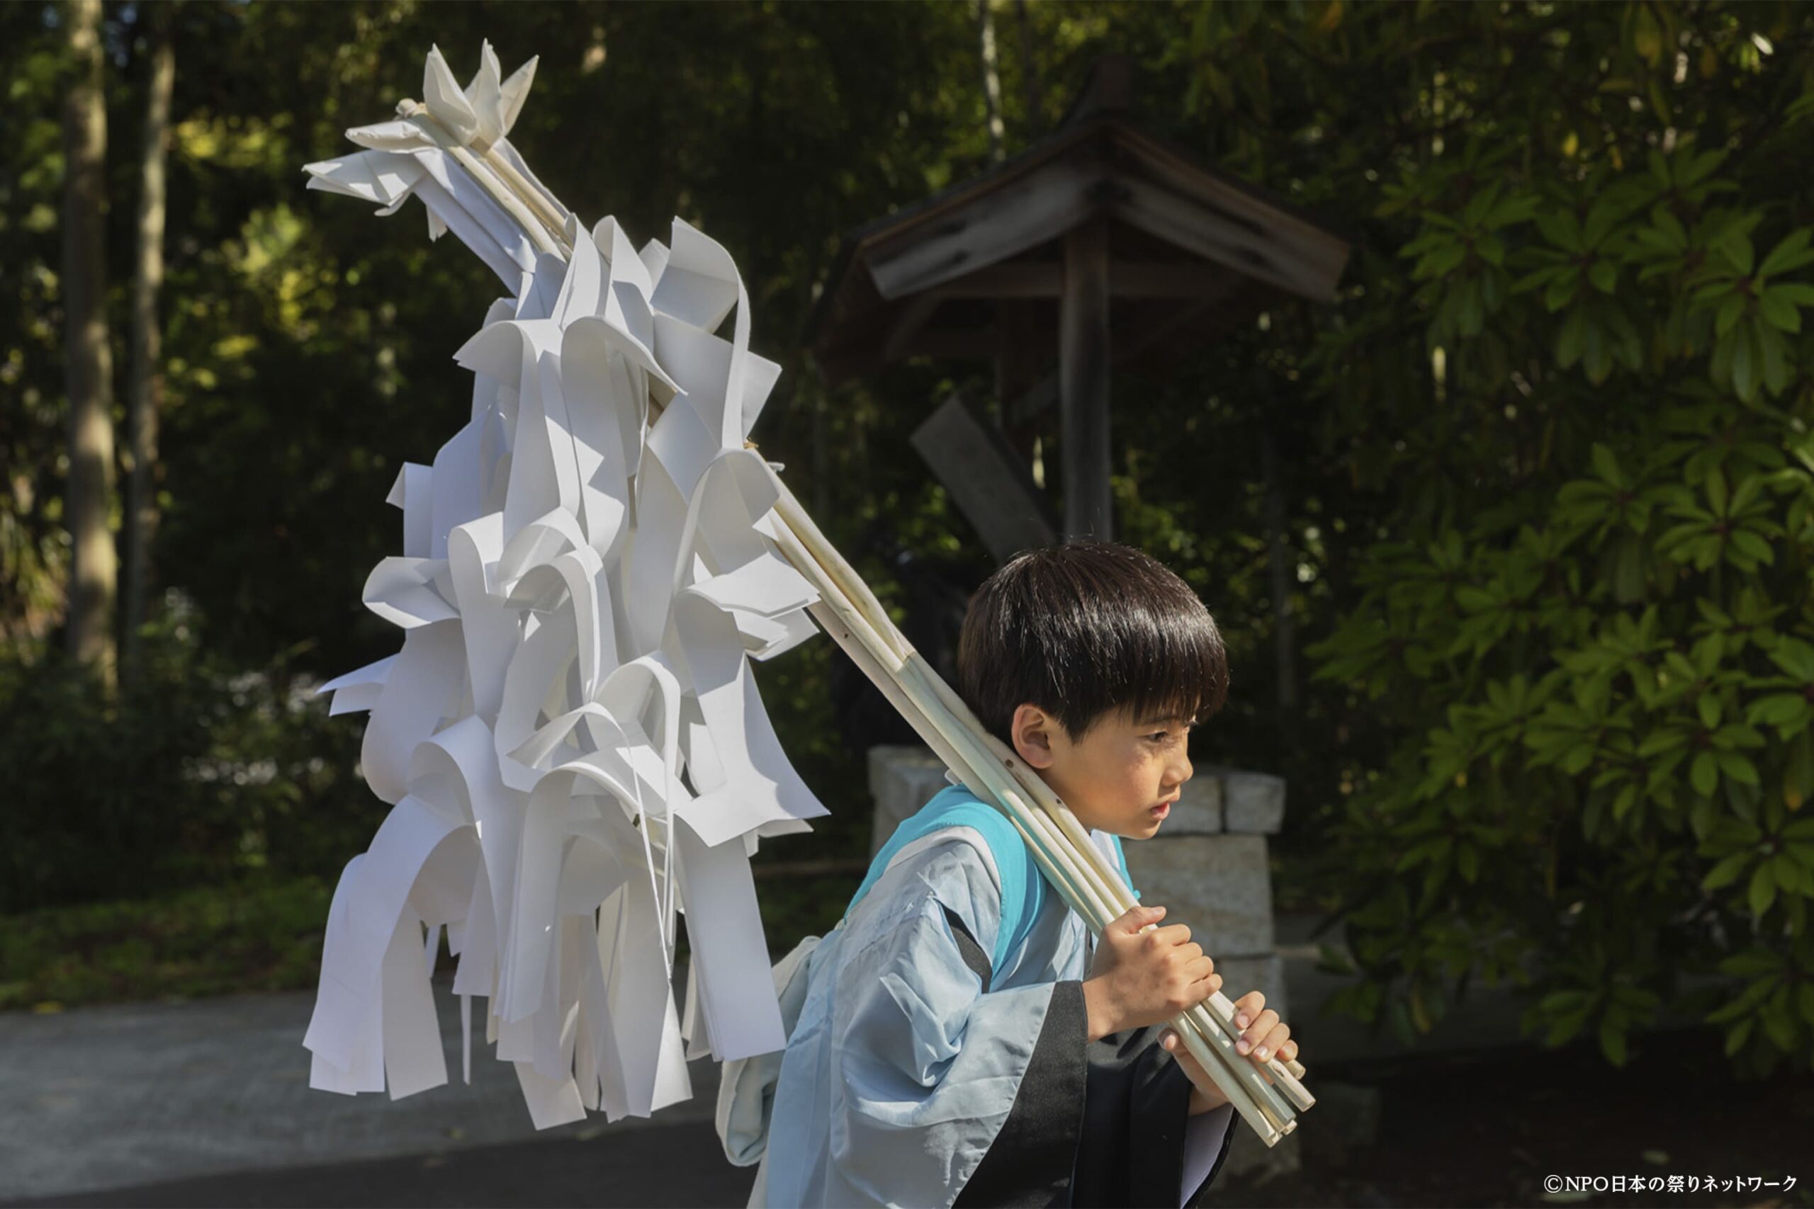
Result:
<svg viewBox="0 0 1814 1209"><path fill-rule="evenodd" d="M974 801L954 787L925 810L952 794ZM1232 1111L1186 1120L1188 1082L1157 1030L1088 1042L1090 937L1048 886L1018 928L1009 912L1025 939L1003 952L1001 886L1039 877L1025 845L987 827L903 830L918 837L878 854L798 975L751 1205L1194 1200ZM1092 839L1121 863L1112 836Z"/></svg>

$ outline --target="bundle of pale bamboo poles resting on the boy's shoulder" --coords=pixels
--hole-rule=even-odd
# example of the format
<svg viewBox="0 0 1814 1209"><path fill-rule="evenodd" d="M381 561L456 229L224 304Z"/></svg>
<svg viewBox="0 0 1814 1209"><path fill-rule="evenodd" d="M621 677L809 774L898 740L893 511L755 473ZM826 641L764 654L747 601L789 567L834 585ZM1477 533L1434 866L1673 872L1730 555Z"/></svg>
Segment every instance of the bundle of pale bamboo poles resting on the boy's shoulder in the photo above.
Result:
<svg viewBox="0 0 1814 1209"><path fill-rule="evenodd" d="M508 160L495 150L473 150L459 143L415 102L401 102L397 116L415 123L454 156L539 250L571 256L566 207L535 189ZM773 466L769 475L780 497L775 508L780 518L775 527L780 551L820 596L811 605L813 618L889 698L927 747L972 792L992 801L1009 817L1047 881L1090 932L1101 935L1110 921L1134 906L1134 894L1121 881L1121 872L1090 843L1088 832L1039 774L989 734L951 685L912 649L882 602L820 533ZM1273 1146L1297 1127L1297 1113L1315 1104L1315 1098L1299 1078L1304 1073L1301 1064L1273 1057L1266 1073L1261 1073L1235 1051L1241 1030L1234 1015L1234 1002L1217 991L1170 1024L1243 1120L1266 1146Z"/></svg>

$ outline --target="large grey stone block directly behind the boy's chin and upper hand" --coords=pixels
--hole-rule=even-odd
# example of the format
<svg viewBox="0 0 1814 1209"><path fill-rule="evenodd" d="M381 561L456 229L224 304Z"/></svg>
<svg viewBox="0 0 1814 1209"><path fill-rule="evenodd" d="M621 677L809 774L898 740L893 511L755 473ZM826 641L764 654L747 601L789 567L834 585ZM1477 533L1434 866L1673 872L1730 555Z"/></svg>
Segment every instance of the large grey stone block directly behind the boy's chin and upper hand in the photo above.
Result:
<svg viewBox="0 0 1814 1209"><path fill-rule="evenodd" d="M1170 836L1123 841L1141 903L1166 908L1166 923L1190 924L1203 952L1223 957L1272 953L1272 874L1264 836Z"/></svg>

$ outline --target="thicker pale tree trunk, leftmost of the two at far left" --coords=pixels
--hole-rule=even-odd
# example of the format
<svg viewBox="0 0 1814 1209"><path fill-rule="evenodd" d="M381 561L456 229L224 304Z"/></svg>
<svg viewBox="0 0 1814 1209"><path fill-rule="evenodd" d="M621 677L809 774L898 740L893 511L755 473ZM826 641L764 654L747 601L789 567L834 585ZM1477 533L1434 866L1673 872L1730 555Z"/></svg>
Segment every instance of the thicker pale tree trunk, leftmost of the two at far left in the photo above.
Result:
<svg viewBox="0 0 1814 1209"><path fill-rule="evenodd" d="M63 355L69 390L69 482L63 524L73 567L69 653L112 683L116 555L112 500L112 353L107 344L107 109L102 98L102 4L69 0L71 80L63 98Z"/></svg>

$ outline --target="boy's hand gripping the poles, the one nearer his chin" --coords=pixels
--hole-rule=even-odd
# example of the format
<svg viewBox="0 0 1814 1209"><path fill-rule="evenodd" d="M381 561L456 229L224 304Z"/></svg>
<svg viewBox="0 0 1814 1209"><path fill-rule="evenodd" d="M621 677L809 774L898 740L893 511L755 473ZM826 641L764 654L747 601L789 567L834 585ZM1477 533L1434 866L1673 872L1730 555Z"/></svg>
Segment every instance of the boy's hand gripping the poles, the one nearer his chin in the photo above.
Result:
<svg viewBox="0 0 1814 1209"><path fill-rule="evenodd" d="M1141 932L1161 919L1163 906L1136 904L1103 928L1090 977L1083 981L1090 1040L1170 1020L1221 990L1223 975L1190 939L1190 928Z"/></svg>

